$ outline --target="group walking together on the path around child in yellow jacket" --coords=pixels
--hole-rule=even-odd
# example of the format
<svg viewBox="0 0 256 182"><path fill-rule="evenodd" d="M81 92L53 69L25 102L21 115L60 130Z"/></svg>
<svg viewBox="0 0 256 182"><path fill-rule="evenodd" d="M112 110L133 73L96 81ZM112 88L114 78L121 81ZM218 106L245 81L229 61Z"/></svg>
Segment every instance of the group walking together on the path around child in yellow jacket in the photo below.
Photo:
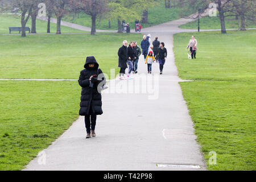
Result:
<svg viewBox="0 0 256 182"><path fill-rule="evenodd" d="M159 63L160 75L163 73L163 66L166 62L167 49L164 43L155 38L151 45L151 35L143 36L141 41L141 48L138 47L137 42L130 42L128 46L127 40L123 41L123 46L118 50L118 67L120 68L119 80L126 80L131 78L131 72L138 73L138 61L141 54L144 56L144 62L147 64L148 73L152 73L152 64L154 61ZM152 49L152 51L150 50ZM128 75L125 76L125 70L129 68Z"/></svg>

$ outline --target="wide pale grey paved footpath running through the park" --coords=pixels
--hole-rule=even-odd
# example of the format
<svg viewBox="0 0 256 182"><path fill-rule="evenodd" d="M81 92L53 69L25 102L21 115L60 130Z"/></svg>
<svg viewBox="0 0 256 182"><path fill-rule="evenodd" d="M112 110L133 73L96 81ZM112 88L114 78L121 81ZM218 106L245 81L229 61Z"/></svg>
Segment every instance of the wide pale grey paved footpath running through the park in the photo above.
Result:
<svg viewBox="0 0 256 182"><path fill-rule="evenodd" d="M96 138L85 139L84 117L80 117L43 150L45 164L40 156L25 170L205 170L179 85L183 80L177 76L172 51L173 34L195 31L178 28L191 20L179 19L143 29L142 33L150 33L152 40L158 36L166 43L168 51L163 75L159 75L157 63L152 66L152 77L158 81L155 93L159 93L156 94L159 97L156 100L149 100L148 94L103 93L104 114L97 118ZM142 56L138 71L147 73ZM127 84L127 89L139 88L142 84L138 80L142 77L143 74L138 74L133 80L111 80L108 92L117 85L122 88L121 84L123 87ZM187 166L159 167L156 164ZM200 168L187 168L195 166Z"/></svg>

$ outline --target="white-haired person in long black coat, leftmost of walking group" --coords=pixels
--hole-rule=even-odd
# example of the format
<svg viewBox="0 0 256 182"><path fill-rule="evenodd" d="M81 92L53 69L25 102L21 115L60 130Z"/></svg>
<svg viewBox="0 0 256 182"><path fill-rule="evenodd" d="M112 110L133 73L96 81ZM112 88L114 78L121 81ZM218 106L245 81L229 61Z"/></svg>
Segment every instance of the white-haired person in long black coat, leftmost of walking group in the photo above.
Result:
<svg viewBox="0 0 256 182"><path fill-rule="evenodd" d="M127 68L127 40L123 40L123 46L118 50L118 67L120 68L119 79L125 79L125 69Z"/></svg>

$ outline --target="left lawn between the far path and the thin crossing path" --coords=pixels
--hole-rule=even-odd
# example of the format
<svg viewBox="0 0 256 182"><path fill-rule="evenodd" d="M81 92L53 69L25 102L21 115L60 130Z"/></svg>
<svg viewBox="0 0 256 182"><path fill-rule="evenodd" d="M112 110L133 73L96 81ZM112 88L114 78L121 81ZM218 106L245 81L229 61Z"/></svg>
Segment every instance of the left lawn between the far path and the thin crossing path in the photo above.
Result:
<svg viewBox="0 0 256 182"><path fill-rule="evenodd" d="M118 73L118 48L141 34L0 35L0 78L79 78L86 56L94 55L109 75Z"/></svg>

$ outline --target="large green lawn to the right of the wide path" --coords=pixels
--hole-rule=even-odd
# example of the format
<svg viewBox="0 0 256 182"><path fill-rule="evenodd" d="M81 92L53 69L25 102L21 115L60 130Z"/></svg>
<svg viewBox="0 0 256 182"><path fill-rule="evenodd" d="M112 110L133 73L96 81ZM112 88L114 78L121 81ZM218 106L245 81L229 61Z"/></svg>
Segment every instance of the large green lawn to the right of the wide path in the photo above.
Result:
<svg viewBox="0 0 256 182"><path fill-rule="evenodd" d="M196 32L196 60L185 47L191 33L174 36L179 76L209 170L255 170L256 31ZM209 165L209 152L217 164Z"/></svg>

